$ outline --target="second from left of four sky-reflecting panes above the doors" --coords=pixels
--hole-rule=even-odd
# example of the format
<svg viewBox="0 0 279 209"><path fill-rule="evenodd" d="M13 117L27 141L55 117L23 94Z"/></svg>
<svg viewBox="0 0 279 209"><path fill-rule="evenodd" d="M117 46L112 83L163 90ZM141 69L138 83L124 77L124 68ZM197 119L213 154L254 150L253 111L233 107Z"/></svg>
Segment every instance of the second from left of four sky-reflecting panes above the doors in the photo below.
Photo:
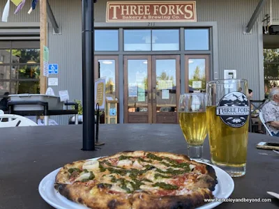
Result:
<svg viewBox="0 0 279 209"><path fill-rule="evenodd" d="M124 30L124 51L151 51L151 30Z"/></svg>

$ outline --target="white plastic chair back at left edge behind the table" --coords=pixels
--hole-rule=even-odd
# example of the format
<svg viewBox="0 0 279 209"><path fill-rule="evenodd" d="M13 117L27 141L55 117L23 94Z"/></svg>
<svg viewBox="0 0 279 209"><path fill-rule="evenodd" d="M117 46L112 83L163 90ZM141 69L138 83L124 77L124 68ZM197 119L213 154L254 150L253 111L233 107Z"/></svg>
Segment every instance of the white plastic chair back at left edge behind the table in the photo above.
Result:
<svg viewBox="0 0 279 209"><path fill-rule="evenodd" d="M8 121L3 122L7 118ZM37 123L31 121L29 118L23 116L0 114L0 127L17 127L17 126L35 126Z"/></svg>

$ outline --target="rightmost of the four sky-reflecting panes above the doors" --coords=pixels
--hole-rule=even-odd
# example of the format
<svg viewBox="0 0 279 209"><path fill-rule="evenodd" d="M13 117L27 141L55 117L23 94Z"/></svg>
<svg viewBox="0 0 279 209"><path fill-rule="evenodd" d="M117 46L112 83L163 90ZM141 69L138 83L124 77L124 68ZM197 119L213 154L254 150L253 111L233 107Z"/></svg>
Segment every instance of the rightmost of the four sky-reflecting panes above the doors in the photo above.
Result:
<svg viewBox="0 0 279 209"><path fill-rule="evenodd" d="M185 50L209 50L209 29L186 29Z"/></svg>

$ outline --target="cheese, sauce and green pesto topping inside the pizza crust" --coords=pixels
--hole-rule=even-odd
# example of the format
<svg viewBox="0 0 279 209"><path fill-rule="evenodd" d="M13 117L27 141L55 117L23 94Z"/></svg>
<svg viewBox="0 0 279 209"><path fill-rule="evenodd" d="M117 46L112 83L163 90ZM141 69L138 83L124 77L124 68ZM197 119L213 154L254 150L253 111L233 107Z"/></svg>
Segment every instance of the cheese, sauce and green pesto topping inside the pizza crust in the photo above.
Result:
<svg viewBox="0 0 279 209"><path fill-rule="evenodd" d="M144 190L156 195L184 195L191 192L204 167L188 161L158 157L147 153L142 157L121 155L107 160L89 160L78 168L68 169L70 183L95 185L91 194L99 192L131 194Z"/></svg>

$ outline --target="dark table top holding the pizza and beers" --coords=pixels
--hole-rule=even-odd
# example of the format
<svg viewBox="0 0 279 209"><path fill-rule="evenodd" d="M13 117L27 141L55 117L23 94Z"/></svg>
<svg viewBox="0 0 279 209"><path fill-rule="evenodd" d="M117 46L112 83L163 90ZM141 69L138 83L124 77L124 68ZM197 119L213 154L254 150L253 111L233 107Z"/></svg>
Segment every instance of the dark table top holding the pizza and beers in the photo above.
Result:
<svg viewBox="0 0 279 209"><path fill-rule="evenodd" d="M52 208L41 197L38 185L48 173L68 162L112 155L123 150L167 151L187 154L179 125L100 125L100 150L82 151L82 125L3 127L0 129L0 208ZM231 198L271 198L271 203L222 203L218 208L278 208L279 156L259 150L260 141L279 143L278 137L249 134L246 175L234 178ZM204 143L209 159L209 141Z"/></svg>

